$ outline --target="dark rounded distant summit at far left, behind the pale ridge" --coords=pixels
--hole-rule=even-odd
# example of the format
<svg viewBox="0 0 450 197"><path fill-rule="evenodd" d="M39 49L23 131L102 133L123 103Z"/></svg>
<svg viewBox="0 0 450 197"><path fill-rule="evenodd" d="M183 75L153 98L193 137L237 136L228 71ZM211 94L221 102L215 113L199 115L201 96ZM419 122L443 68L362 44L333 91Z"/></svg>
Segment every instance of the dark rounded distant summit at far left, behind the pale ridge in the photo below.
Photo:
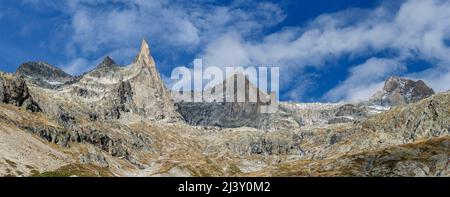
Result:
<svg viewBox="0 0 450 197"><path fill-rule="evenodd" d="M66 83L73 83L74 77L60 68L46 62L26 62L17 68L16 75L22 76L41 87L55 89Z"/></svg>

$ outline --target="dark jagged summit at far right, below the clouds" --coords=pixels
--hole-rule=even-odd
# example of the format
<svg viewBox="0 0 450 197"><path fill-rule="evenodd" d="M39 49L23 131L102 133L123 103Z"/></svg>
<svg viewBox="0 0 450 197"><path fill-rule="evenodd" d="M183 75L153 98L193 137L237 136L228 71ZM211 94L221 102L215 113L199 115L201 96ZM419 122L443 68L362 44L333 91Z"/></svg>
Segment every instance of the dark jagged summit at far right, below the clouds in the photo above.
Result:
<svg viewBox="0 0 450 197"><path fill-rule="evenodd" d="M396 106L416 102L434 94L422 80L413 81L400 77L390 77L383 90L376 92L371 102L382 106Z"/></svg>

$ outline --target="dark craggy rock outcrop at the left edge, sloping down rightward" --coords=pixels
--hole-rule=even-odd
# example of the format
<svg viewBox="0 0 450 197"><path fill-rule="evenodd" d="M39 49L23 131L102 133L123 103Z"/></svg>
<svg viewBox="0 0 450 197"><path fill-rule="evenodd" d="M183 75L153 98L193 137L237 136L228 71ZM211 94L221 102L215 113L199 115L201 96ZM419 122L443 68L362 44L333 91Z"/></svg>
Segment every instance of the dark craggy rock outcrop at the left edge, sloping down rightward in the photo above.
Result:
<svg viewBox="0 0 450 197"><path fill-rule="evenodd" d="M39 105L30 95L25 80L5 73L0 73L0 101L24 107L32 112L41 111Z"/></svg>

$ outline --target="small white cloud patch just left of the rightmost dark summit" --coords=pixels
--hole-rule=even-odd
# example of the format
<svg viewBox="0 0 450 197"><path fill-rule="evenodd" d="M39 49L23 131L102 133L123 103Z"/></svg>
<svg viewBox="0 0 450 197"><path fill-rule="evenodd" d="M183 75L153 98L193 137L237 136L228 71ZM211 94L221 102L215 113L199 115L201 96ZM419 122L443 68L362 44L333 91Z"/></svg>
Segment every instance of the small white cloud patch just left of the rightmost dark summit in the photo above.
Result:
<svg viewBox="0 0 450 197"><path fill-rule="evenodd" d="M391 75L406 71L406 67L392 59L371 58L350 69L350 76L327 92L327 101L367 100L383 87L383 81Z"/></svg>

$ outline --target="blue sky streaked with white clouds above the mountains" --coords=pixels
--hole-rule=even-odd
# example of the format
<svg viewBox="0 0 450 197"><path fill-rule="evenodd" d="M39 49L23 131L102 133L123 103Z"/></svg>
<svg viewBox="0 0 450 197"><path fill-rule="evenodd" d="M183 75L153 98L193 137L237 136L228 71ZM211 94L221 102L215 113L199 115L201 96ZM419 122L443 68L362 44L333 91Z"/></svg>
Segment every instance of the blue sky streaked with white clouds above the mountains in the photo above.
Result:
<svg viewBox="0 0 450 197"><path fill-rule="evenodd" d="M280 66L282 100L364 100L390 75L450 89L449 1L0 1L7 72L45 60L80 74L106 55L126 65L146 38L166 79L194 58Z"/></svg>

